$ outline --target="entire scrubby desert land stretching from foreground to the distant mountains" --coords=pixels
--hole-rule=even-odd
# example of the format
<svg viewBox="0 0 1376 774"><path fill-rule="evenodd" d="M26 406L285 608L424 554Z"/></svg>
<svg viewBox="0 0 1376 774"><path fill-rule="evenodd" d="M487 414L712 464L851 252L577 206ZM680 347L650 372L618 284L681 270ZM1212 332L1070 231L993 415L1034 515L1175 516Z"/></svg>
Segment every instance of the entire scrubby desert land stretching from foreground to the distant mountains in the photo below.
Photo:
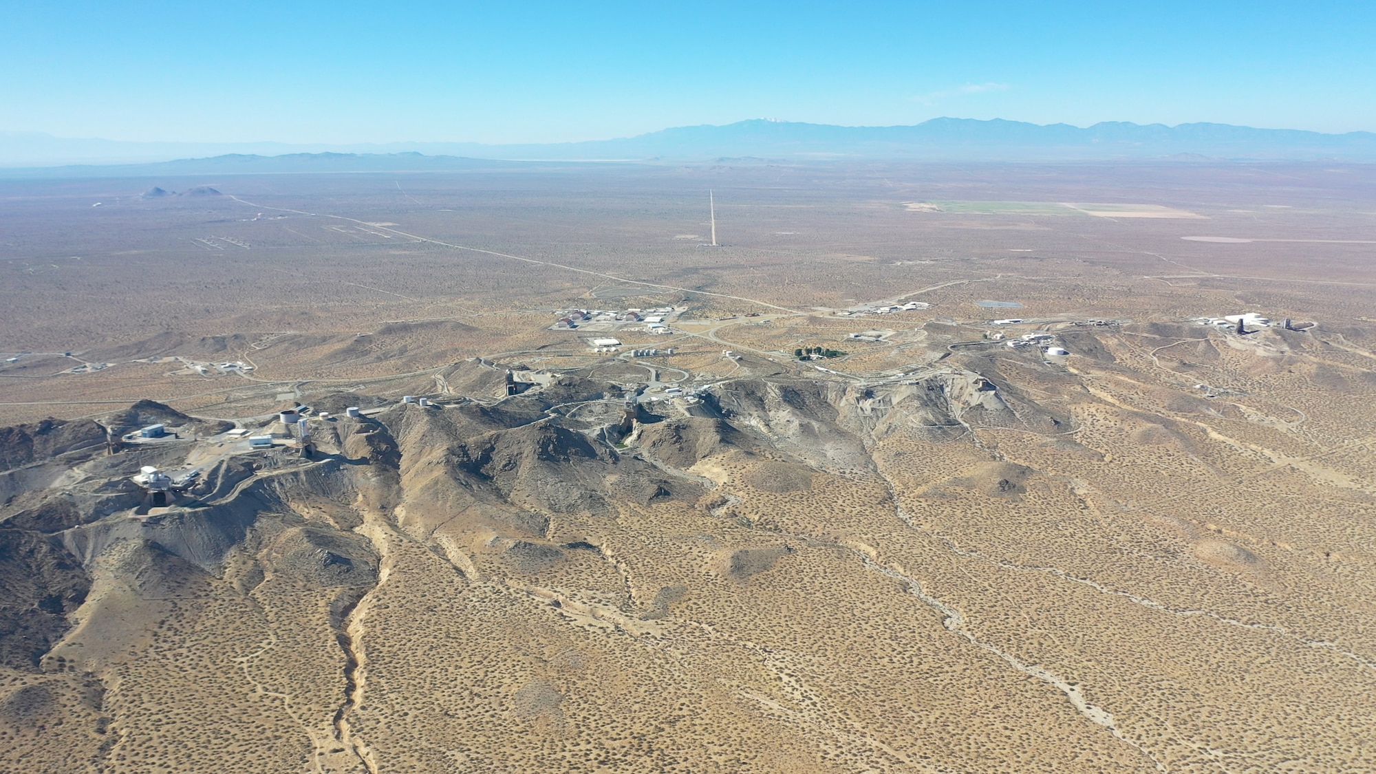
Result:
<svg viewBox="0 0 1376 774"><path fill-rule="evenodd" d="M1373 256L1370 165L0 180L0 771L1376 770Z"/></svg>

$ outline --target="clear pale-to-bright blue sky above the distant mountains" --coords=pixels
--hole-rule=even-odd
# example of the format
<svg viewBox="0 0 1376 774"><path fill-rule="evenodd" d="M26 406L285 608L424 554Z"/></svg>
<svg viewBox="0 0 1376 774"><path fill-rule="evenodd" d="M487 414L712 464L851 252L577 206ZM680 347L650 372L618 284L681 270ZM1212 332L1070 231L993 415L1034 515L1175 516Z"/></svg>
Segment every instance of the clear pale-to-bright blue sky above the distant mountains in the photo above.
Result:
<svg viewBox="0 0 1376 774"><path fill-rule="evenodd" d="M0 129L559 142L772 117L1376 131L1376 3L7 3Z"/></svg>

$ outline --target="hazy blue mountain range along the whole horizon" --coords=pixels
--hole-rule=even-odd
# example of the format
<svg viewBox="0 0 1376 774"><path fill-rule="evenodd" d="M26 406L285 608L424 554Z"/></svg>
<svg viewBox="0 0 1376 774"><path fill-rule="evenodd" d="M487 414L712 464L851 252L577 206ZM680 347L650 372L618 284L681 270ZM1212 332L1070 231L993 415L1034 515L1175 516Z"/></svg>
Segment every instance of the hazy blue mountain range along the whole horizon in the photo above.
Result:
<svg viewBox="0 0 1376 774"><path fill-rule="evenodd" d="M911 160L911 161L1072 161L1179 156L1256 160L1376 161L1376 134L1340 135L1298 129L1258 129L1229 124L1069 124L933 118L911 127L835 127L750 120L727 125L676 127L633 138L548 143L388 143L300 146L285 143L149 143L63 139L0 132L0 167L125 165L87 174L305 172L472 168L486 161L707 161L760 160ZM206 158L213 157L213 158ZM271 160L271 161L268 161ZM176 165L162 167L164 163ZM486 165L486 164L484 164ZM65 174L77 174L67 169ZM33 169L30 174L39 174Z"/></svg>

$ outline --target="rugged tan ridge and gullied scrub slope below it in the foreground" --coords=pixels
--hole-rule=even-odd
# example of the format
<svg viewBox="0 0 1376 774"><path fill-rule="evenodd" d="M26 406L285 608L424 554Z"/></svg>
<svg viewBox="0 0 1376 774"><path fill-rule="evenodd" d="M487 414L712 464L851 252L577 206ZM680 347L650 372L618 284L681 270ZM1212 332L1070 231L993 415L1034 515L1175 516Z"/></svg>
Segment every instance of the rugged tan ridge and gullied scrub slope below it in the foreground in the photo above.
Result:
<svg viewBox="0 0 1376 774"><path fill-rule="evenodd" d="M7 428L0 770L1372 768L1376 384L1315 339Z"/></svg>

